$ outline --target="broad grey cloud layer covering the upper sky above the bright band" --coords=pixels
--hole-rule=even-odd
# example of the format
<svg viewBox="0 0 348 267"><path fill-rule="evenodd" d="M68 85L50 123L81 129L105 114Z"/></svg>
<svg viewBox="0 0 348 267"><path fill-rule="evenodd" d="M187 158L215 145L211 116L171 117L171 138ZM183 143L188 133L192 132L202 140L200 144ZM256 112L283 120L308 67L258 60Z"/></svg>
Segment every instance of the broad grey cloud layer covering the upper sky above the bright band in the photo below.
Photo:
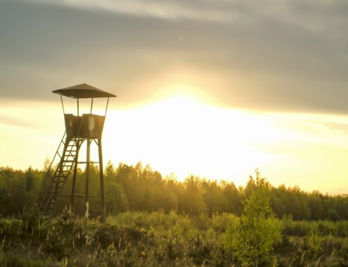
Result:
<svg viewBox="0 0 348 267"><path fill-rule="evenodd" d="M132 103L180 83L229 107L347 113L347 29L345 1L6 1L1 97L88 82Z"/></svg>

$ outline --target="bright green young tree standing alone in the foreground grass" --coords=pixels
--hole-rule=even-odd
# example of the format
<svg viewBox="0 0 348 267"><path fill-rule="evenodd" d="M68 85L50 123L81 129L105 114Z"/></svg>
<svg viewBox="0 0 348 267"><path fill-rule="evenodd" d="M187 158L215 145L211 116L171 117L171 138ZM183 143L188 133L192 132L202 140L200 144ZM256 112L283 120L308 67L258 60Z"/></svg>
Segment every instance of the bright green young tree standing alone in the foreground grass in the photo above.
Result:
<svg viewBox="0 0 348 267"><path fill-rule="evenodd" d="M232 229L232 248L242 266L268 266L280 241L283 225L274 219L269 183L256 170L255 188L244 203L244 213Z"/></svg>

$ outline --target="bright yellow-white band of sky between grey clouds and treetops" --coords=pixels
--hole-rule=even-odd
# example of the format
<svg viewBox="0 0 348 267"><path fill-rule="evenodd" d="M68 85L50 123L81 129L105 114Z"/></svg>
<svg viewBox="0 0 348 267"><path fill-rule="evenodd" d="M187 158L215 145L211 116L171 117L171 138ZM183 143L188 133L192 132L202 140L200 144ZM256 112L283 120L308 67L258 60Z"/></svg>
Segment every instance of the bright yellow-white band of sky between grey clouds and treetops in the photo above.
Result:
<svg viewBox="0 0 348 267"><path fill-rule="evenodd" d="M185 86L186 92L172 86L176 93L167 91L168 98L141 107L111 104L103 133L104 166L109 160L114 165L141 161L164 176L175 173L183 180L196 174L236 185L245 185L258 167L273 185L347 193L347 116L227 109ZM102 112L104 105L100 102L95 111ZM1 166L42 169L63 132L59 102L3 102ZM83 160L86 149L81 149ZM94 146L91 160L97 161Z"/></svg>

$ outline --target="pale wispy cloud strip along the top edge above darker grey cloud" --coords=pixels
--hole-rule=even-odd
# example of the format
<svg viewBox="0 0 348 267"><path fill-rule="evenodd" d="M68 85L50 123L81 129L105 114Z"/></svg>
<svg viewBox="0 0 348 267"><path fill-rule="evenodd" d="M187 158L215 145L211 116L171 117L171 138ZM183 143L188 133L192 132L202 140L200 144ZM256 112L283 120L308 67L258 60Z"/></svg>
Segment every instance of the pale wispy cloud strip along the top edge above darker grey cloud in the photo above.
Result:
<svg viewBox="0 0 348 267"><path fill-rule="evenodd" d="M273 20L310 31L335 29L347 23L348 3L340 0L27 0L85 10L157 17L166 20L248 22Z"/></svg>

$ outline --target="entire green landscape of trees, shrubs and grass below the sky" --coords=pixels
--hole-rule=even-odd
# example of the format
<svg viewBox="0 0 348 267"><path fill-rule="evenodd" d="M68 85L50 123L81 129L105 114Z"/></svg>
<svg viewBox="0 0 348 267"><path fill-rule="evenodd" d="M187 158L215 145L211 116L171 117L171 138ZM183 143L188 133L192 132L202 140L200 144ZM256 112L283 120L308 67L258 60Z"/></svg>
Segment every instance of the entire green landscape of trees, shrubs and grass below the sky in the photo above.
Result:
<svg viewBox="0 0 348 267"><path fill-rule="evenodd" d="M109 162L102 224L96 167L89 220L83 198L68 209L71 179L53 218L42 218L46 169L0 169L0 266L348 266L347 195L274 187L258 169L237 188Z"/></svg>

